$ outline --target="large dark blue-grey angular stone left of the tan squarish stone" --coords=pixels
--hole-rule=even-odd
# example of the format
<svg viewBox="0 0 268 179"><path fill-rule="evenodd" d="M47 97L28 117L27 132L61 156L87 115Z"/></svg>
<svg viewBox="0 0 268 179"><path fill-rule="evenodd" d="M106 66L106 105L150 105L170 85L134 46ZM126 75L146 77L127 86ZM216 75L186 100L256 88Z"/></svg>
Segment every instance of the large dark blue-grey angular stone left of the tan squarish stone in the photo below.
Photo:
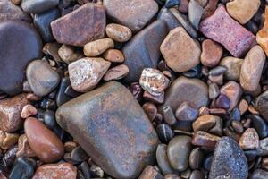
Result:
<svg viewBox="0 0 268 179"><path fill-rule="evenodd" d="M160 58L159 47L166 36L168 28L164 21L157 20L139 31L122 48L125 62L130 72L125 81L138 81L144 68L156 68Z"/></svg>

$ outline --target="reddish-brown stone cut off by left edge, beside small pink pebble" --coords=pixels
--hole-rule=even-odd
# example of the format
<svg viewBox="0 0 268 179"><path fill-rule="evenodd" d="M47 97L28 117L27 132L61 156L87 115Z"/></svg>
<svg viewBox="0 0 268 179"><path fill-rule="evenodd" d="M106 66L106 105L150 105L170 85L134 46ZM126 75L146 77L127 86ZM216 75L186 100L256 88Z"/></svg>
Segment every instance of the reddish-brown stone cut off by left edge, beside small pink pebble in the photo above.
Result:
<svg viewBox="0 0 268 179"><path fill-rule="evenodd" d="M0 129L4 132L15 132L23 123L21 111L29 104L26 94L0 100Z"/></svg>

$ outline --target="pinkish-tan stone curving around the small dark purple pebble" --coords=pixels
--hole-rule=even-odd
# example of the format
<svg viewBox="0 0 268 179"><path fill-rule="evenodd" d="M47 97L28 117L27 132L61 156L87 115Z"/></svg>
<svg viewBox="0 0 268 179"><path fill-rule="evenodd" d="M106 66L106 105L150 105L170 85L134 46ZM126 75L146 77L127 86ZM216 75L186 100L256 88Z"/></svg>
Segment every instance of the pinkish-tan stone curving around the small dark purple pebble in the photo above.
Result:
<svg viewBox="0 0 268 179"><path fill-rule="evenodd" d="M229 98L230 107L228 112L230 113L230 111L238 105L243 90L237 82L229 81L222 86L220 93Z"/></svg>

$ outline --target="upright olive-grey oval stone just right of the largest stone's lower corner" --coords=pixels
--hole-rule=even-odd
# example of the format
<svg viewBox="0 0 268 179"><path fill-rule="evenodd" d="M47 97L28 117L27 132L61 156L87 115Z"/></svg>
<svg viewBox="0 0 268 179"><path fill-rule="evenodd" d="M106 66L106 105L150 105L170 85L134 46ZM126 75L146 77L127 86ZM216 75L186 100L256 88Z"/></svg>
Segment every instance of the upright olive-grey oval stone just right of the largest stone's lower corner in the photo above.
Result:
<svg viewBox="0 0 268 179"><path fill-rule="evenodd" d="M191 150L191 138L180 135L172 138L167 146L167 156L172 168L185 171L188 168L188 157Z"/></svg>

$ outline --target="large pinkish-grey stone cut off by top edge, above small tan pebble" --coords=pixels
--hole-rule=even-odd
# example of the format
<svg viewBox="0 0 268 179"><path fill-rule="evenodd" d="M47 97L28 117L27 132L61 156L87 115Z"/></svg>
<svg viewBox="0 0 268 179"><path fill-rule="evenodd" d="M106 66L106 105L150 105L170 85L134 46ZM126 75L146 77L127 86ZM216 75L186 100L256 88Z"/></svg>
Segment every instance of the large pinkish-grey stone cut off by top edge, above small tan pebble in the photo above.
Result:
<svg viewBox="0 0 268 179"><path fill-rule="evenodd" d="M153 0L104 0L104 5L108 17L133 31L141 30L158 11Z"/></svg>

